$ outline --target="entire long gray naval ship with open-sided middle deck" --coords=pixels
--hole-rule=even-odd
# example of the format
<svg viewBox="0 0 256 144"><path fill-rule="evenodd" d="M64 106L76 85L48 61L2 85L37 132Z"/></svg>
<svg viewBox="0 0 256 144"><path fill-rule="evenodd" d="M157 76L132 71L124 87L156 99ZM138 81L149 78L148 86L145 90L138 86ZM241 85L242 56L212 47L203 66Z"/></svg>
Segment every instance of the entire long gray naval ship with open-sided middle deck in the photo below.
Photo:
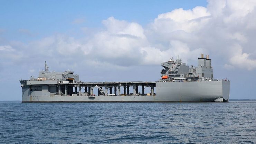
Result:
<svg viewBox="0 0 256 144"><path fill-rule="evenodd" d="M37 78L20 80L22 102L228 102L230 81L214 79L208 55L201 54L198 66L179 57L161 65L158 81L83 82L74 71L49 71L45 62Z"/></svg>

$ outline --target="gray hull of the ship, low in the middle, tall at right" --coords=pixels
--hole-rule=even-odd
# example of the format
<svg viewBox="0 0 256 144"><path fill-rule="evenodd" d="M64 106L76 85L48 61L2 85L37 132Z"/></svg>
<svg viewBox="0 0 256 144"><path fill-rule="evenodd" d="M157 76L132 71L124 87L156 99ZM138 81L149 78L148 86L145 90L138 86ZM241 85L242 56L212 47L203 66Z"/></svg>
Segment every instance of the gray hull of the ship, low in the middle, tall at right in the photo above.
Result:
<svg viewBox="0 0 256 144"><path fill-rule="evenodd" d="M21 84L25 81L20 81ZM154 96L44 96L22 87L22 102L214 102L229 99L229 81L157 82ZM44 94L45 93L45 94Z"/></svg>

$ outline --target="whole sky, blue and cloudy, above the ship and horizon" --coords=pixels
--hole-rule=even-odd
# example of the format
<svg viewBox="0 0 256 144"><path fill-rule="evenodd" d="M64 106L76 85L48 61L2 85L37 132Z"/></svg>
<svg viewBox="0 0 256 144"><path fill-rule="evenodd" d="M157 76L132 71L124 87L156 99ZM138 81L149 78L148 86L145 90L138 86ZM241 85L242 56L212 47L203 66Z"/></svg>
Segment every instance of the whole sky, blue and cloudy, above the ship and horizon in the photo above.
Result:
<svg viewBox="0 0 256 144"><path fill-rule="evenodd" d="M255 0L0 2L0 100L21 100L45 61L81 81L157 81L161 61L201 53L230 99L256 99Z"/></svg>

